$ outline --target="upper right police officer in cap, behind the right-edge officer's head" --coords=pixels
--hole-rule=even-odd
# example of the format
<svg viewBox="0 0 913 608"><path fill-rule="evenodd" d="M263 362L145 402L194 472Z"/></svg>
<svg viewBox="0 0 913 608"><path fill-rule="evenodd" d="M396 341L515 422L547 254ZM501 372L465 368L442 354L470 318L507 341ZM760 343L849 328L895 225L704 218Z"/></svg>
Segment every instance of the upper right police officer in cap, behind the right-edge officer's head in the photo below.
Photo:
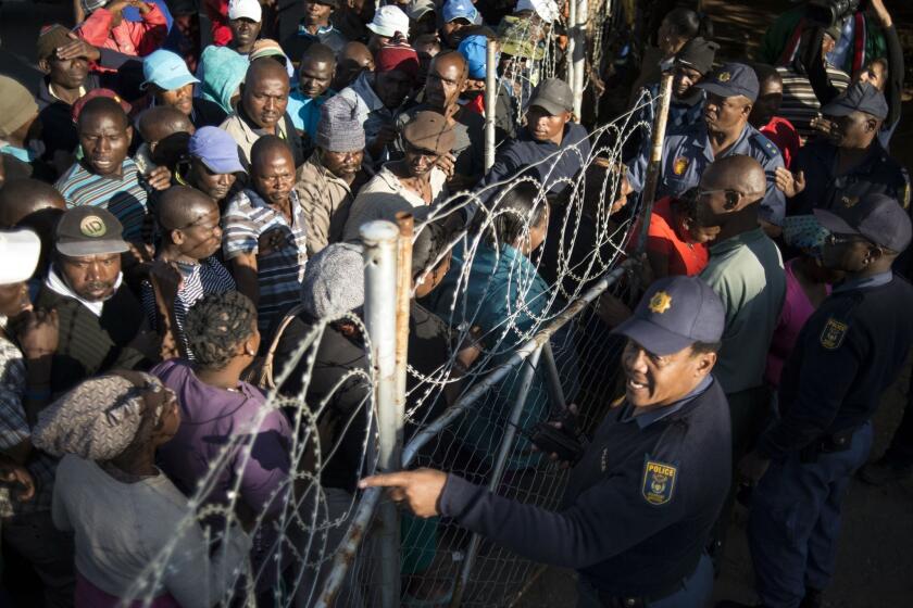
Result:
<svg viewBox="0 0 913 608"><path fill-rule="evenodd" d="M789 215L840 208L875 193L898 199L908 207L906 172L878 141L888 115L884 93L867 83L856 83L825 105L822 113L836 127L829 138L809 142L796 156L792 170L797 176L802 173L803 187L796 188L788 173L780 176L787 178Z"/></svg>

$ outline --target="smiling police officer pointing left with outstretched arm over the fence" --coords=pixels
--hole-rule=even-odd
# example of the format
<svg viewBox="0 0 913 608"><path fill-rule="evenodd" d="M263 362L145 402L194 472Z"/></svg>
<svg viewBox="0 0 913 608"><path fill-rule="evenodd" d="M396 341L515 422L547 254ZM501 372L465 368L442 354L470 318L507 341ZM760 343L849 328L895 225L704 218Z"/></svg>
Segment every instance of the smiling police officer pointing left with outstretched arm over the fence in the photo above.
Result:
<svg viewBox="0 0 913 608"><path fill-rule="evenodd" d="M726 397L711 375L723 303L696 277L660 279L615 331L627 338L623 403L571 472L562 510L430 469L378 474L420 517L442 515L529 559L579 572L578 607L704 606L704 553L729 486Z"/></svg>

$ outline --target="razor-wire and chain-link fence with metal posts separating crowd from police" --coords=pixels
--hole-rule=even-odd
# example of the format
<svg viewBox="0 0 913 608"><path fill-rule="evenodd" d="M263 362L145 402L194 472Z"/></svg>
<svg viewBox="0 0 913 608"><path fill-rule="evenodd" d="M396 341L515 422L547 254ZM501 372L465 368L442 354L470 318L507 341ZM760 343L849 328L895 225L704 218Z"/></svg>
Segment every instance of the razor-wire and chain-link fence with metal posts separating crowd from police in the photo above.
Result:
<svg viewBox="0 0 913 608"><path fill-rule="evenodd" d="M560 508L566 471L533 451L531 428L575 403L581 428L592 430L623 392L616 384L623 343L600 319L600 297L627 297L637 283L628 252L639 250L638 227L646 232L649 221L670 90L667 78L659 98L645 93L587 142L559 152L578 155L581 170L574 177L558 176L552 155L516 178L452 195L414 227L411 219L363 226L363 313L310 326L276 376L277 387L295 381L300 389L271 391L257 418L223 446L188 497L192 515L136 580L124 605L150 606L170 573L191 559L199 567L199 555L182 554L180 543L197 528L207 534L209 562L223 569L201 578L201 586L215 587L201 594L223 606L387 608L429 598L434 605L513 605L541 567L447 520L400 511L377 489L328 486L327 471L357 453L348 471L353 480L428 466L524 503ZM636 118L646 104L661 106L655 125ZM625 205L622 148L643 127L653 130L647 203ZM499 216L511 213L501 202L523 182L537 187L534 208L550 210L545 242L527 253L516 243L484 238L497 235ZM533 224L536 215L523 218L522 240L540 229ZM426 267L451 261L449 291L420 303L446 328L442 363L428 369L421 353L407 347L415 290L427 280L412 280L411 245L423 230L452 217L464 228ZM354 328L352 343L363 360L316 391L322 344L341 322ZM476 345L478 355L461 369L466 344ZM347 398L340 411L340 396L353 392L359 398ZM267 507L251 517L240 472L260 457L258 435L277 409L292 426L291 469ZM333 432L324 428L327 418ZM211 504L208 497L226 474L234 480L228 502ZM245 534L254 548L230 563L229 547Z"/></svg>

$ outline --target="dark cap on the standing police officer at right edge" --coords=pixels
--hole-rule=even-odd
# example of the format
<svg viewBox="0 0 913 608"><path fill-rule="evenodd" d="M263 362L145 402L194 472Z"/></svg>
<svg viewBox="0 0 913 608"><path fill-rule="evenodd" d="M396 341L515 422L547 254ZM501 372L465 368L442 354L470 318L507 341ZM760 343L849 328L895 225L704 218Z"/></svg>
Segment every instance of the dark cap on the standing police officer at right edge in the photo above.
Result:
<svg viewBox="0 0 913 608"><path fill-rule="evenodd" d="M900 253L913 235L910 216L896 199L885 194L845 198L833 211L814 210L815 218L835 235L861 235L876 245Z"/></svg>

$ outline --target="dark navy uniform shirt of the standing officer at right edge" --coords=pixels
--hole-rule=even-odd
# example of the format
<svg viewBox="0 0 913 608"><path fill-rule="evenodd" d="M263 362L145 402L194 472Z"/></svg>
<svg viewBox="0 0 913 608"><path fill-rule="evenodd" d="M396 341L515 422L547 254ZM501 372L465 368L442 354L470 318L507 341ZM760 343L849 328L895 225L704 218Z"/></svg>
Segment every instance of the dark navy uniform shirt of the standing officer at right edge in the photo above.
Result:
<svg viewBox="0 0 913 608"><path fill-rule="evenodd" d="M885 273L847 281L805 321L783 369L780 419L758 452L780 458L866 422L913 344L913 286Z"/></svg>

